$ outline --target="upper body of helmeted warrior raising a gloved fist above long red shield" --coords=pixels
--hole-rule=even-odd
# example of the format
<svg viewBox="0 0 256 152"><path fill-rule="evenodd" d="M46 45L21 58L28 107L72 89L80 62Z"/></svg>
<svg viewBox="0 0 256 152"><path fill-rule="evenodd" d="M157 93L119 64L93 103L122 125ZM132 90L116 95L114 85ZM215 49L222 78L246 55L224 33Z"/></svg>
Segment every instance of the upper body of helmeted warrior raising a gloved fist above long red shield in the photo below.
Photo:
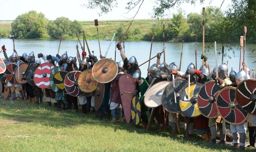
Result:
<svg viewBox="0 0 256 152"><path fill-rule="evenodd" d="M136 71L141 73L141 69L138 66L138 62L135 58L135 56L130 57L130 59L127 59L126 54L122 50L122 46L120 43L117 45L118 50L120 51L121 58L124 62L124 69L126 70L127 74L133 75Z"/></svg>

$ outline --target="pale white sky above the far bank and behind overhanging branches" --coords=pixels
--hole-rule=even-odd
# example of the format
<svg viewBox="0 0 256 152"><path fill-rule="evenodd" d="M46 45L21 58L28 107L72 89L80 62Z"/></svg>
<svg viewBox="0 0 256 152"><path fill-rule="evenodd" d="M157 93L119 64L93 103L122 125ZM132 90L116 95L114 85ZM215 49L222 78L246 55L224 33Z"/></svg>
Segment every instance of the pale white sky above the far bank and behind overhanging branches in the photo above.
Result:
<svg viewBox="0 0 256 152"><path fill-rule="evenodd" d="M87 0L0 0L0 20L14 20L18 15L26 13L31 10L41 12L45 14L45 17L49 20L55 20L58 17L64 16L70 20L127 20L133 17L136 9L126 13L125 6L128 0L117 0L118 7L114 8L108 14L99 16L100 10L88 9L83 7L83 4L87 4ZM198 0L199 1L199 0ZM216 6L220 7L223 0L212 0L209 4L209 0L205 0L204 4L197 2L195 5L182 4L181 8L188 13L200 13L202 7ZM222 11L226 10L231 0L224 0L222 5ZM141 6L141 9L135 19L150 19L155 0L145 0ZM169 10L170 17L172 13L176 13L176 9Z"/></svg>

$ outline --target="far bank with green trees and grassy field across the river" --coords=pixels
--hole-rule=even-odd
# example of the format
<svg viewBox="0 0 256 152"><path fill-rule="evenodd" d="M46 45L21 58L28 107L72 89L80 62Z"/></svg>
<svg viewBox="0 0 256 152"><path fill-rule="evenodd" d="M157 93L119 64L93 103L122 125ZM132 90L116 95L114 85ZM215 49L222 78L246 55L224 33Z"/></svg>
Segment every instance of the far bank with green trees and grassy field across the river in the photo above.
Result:
<svg viewBox="0 0 256 152"><path fill-rule="evenodd" d="M216 7L207 7L205 11L205 42L219 41L222 43L239 42L243 35L243 25L234 26L228 24L230 18L225 17ZM43 13L30 11L19 15L10 25L0 24L0 36L8 34L16 38L26 39L76 39L78 31L85 31L88 40L96 40L97 32L93 21L71 21L66 17L56 20L47 20ZM99 20L99 34L101 40L110 40L114 33L121 38L128 27L128 20ZM202 42L202 14L179 11L170 19L134 20L125 40L151 40L151 34L155 35L155 41L163 40L162 25L165 24L166 41L193 42L195 35L198 42ZM256 43L256 35L248 30L247 42ZM81 37L81 35L80 35Z"/></svg>

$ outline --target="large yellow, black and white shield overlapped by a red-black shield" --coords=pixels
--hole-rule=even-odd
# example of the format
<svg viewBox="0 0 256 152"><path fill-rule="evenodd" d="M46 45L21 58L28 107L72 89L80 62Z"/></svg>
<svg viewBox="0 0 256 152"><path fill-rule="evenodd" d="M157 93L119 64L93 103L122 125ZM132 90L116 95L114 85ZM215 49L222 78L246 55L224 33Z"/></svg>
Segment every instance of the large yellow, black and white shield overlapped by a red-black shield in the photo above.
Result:
<svg viewBox="0 0 256 152"><path fill-rule="evenodd" d="M189 118L195 118L201 115L201 112L198 109L198 103L197 103L197 96L202 87L202 84L200 83L194 83L190 85L190 91L189 86L187 86L181 94L181 100L180 100L180 108L182 113L189 117ZM188 99L188 93L190 99Z"/></svg>

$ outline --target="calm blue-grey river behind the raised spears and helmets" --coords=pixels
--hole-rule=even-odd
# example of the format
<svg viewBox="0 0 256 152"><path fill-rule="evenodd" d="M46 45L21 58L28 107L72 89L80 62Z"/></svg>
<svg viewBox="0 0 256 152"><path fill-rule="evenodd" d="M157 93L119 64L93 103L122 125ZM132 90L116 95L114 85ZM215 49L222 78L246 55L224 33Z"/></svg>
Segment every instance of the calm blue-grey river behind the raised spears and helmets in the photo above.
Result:
<svg viewBox="0 0 256 152"><path fill-rule="evenodd" d="M82 43L82 42L81 42ZM101 53L104 55L110 41L104 41L101 40ZM143 63L144 61L149 59L149 53L150 53L150 41L127 41L125 42L125 53L129 59L131 56L135 56L139 65ZM65 53L67 51L68 56L76 56L76 46L77 41L76 40L62 40L61 41L61 48L60 48L60 55ZM13 41L11 39L0 39L0 45L5 45L7 48L7 55L10 56L13 53ZM79 45L79 44L78 44ZM88 45L90 48L90 51L94 51L94 55L96 55L99 58L99 46L97 40L89 40ZM206 46L212 46L213 44L206 43ZM235 52L235 54L232 53L232 51L228 51L227 48L225 48L224 52L228 53L232 59L229 59L228 56L224 57L224 62L226 60L229 60L229 72L231 71L231 68L238 72L239 68L239 57L240 57L240 46L233 46L232 49ZM45 55L51 54L56 55L58 52L58 46L59 46L59 40L25 40L25 39L17 39L15 40L15 49L19 55L22 55L22 53L30 53L31 51L34 51L36 59L38 53L43 53ZM166 42L166 62L170 64L171 62L175 62L178 66L180 64L180 55L182 50L182 43L171 43ZM218 51L221 50L221 46L217 44ZM163 49L163 43L162 42L153 42L152 47L152 56L155 56L158 52L162 52ZM256 49L256 44L247 44L246 45L246 52L245 52L245 61L247 63L247 66L252 69L256 68L256 63L253 63L256 61L256 51L252 53L252 50ZM79 48L80 52L81 49ZM87 50L87 49L86 49ZM88 53L88 52L87 52ZM199 69L200 66L202 66L202 43L197 43L197 68ZM215 53L214 53L214 47L209 49L209 52L205 51L206 56L209 58L209 66L211 69L215 67ZM242 53L243 54L243 53ZM4 58L3 53L0 54L1 58ZM115 58L115 41L112 42L112 45L108 51L108 58ZM218 66L221 64L222 61L222 55L218 54ZM116 61L120 61L121 56L119 53L119 50L116 50ZM161 56L161 62L163 61L163 54ZM156 58L151 60L151 65L156 62ZM187 66L189 63L193 62L195 64L195 43L184 43L183 44L183 56L182 56L182 68L181 71L185 72L187 69ZM142 77L145 77L147 75L147 68L148 63L144 64L141 68Z"/></svg>

